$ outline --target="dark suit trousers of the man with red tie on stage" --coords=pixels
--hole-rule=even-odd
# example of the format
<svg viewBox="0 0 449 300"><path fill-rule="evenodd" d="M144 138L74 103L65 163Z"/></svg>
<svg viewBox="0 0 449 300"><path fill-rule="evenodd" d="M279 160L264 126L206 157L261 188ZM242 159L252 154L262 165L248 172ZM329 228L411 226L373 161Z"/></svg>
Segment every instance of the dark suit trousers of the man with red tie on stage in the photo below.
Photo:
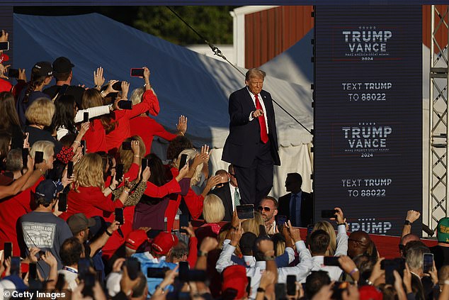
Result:
<svg viewBox="0 0 449 300"><path fill-rule="evenodd" d="M257 153L250 167L234 165L240 192L241 204L258 206L273 187L273 157L271 155L270 140L267 143L259 141Z"/></svg>

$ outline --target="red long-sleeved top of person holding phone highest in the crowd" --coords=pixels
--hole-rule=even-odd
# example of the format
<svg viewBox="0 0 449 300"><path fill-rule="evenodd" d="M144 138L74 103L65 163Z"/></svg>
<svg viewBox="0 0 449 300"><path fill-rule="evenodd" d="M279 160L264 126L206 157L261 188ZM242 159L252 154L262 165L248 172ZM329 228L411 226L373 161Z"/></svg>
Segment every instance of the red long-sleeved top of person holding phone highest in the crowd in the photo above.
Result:
<svg viewBox="0 0 449 300"><path fill-rule="evenodd" d="M153 116L159 113L159 101L151 89L145 91L142 97L142 102L132 106L132 109L114 111L115 129L106 135L108 150L120 148L123 140L131 136L130 118L139 116L145 111L149 111Z"/></svg>

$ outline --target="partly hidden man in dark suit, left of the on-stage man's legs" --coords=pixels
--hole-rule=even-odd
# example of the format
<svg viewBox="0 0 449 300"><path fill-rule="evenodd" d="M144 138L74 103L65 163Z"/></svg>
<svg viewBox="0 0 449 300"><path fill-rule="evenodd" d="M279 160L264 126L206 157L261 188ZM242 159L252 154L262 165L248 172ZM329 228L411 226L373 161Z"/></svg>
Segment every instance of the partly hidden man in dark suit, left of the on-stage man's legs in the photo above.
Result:
<svg viewBox="0 0 449 300"><path fill-rule="evenodd" d="M240 193L239 184L237 184L237 178L234 174L234 167L229 165L226 176L228 181L222 184L222 187L212 189L209 194L215 194L220 197L224 206L224 218L223 221L232 221L232 214L235 210L235 206L240 205ZM215 173L215 175L218 175ZM221 174L220 174L221 175ZM218 187L218 184L217 184Z"/></svg>

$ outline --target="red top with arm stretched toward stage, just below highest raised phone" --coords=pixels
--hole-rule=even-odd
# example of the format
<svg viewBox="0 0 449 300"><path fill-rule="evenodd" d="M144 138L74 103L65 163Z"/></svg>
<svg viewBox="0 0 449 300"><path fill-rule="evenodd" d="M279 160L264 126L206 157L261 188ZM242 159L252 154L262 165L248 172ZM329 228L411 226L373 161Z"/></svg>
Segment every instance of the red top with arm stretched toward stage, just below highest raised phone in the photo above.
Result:
<svg viewBox="0 0 449 300"><path fill-rule="evenodd" d="M152 150L152 143L154 135L160 136L166 140L173 140L176 138L176 134L169 133L165 130L164 126L157 123L156 120L149 116L137 116L130 120L131 135L139 135L144 140L145 148L147 148L148 155Z"/></svg>

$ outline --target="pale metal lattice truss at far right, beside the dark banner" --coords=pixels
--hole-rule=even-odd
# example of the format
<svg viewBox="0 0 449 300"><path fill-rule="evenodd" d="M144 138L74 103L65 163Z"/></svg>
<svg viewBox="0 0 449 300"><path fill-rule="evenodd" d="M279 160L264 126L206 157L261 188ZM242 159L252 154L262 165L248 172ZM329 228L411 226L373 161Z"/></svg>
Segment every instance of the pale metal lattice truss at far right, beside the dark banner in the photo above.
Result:
<svg viewBox="0 0 449 300"><path fill-rule="evenodd" d="M441 9L441 6L438 6ZM448 36L449 6L431 6L431 50L429 74L429 144L428 144L428 221L436 228L438 220L449 216L449 74L448 45L440 45L437 36Z"/></svg>

